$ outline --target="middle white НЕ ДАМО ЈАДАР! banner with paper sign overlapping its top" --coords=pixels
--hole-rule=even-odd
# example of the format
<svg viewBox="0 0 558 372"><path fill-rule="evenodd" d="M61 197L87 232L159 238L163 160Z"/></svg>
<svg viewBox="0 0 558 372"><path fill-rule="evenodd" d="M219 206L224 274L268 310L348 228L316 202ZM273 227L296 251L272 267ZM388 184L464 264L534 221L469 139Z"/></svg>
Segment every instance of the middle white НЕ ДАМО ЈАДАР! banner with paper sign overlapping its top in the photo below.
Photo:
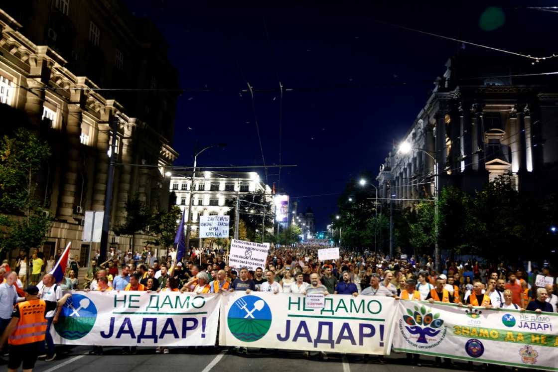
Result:
<svg viewBox="0 0 558 372"><path fill-rule="evenodd" d="M395 300L325 296L310 308L302 294L223 293L219 345L389 355Z"/></svg>

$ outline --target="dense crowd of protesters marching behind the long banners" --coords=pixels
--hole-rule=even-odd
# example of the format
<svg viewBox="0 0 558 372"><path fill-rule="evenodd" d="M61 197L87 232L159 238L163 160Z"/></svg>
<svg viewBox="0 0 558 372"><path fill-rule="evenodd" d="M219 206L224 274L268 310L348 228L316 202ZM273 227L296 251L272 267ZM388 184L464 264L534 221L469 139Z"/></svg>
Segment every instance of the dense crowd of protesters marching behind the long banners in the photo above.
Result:
<svg viewBox="0 0 558 372"><path fill-rule="evenodd" d="M315 249L314 249L315 248ZM22 255L16 264L18 270L10 273L4 262L0 267L0 282L8 283L17 290L4 299L0 288L0 303L5 311L0 313L0 331L9 321L12 302L22 301L25 293L25 279L30 274L30 284L37 284L37 296L45 301L60 301L62 291L68 289L85 291L171 291L218 293L222 291L262 291L272 293L324 293L352 296L388 296L396 299L427 300L430 302L452 302L460 306L483 306L515 308L536 312L556 312L558 297L555 284L537 288L536 274L552 277L547 264L527 272L522 265L500 263L479 263L477 260L445 260L442 270L435 268L431 257L386 255L365 251L355 253L341 250L336 260L318 260L317 250L323 247L288 247L270 251L264 267L249 271L246 268L231 268L226 263L223 252L194 251L181 262L176 262L173 249L161 258L146 247L143 252L119 253L110 249L108 259L99 263L98 256L92 259L83 283L78 281L78 257L70 260L67 276L54 283L51 274L43 274L46 268L40 252L32 252L32 272L26 270L27 258ZM59 253L60 254L60 253ZM41 260L42 262L40 262ZM40 270L39 270L40 269ZM22 274L22 270L23 274ZM8 280L9 279L9 280ZM6 300L4 302L4 300ZM3 309L3 307L2 307ZM54 312L46 315L47 330L54 320ZM1 332L0 332L1 334ZM247 352L246 348L244 351ZM125 347L124 353L136 352L135 347ZM157 353L168 354L169 349L159 347ZM102 347L94 347L92 354L102 354ZM42 342L40 357L54 360L54 344L47 332ZM320 353L324 359L325 353ZM305 356L308 353L305 352ZM408 355L411 363L420 364L417 355ZM379 359L383 361L382 359ZM445 361L450 363L449 360Z"/></svg>

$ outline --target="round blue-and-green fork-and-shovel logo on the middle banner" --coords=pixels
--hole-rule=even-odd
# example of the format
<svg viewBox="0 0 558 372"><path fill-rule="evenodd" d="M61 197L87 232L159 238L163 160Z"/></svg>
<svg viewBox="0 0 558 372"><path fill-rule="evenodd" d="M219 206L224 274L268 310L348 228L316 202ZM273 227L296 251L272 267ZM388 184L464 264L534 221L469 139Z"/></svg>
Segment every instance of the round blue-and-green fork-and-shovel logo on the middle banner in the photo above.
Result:
<svg viewBox="0 0 558 372"><path fill-rule="evenodd" d="M243 296L230 307L227 315L230 332L240 341L254 342L267 334L271 327L271 310L257 296Z"/></svg>

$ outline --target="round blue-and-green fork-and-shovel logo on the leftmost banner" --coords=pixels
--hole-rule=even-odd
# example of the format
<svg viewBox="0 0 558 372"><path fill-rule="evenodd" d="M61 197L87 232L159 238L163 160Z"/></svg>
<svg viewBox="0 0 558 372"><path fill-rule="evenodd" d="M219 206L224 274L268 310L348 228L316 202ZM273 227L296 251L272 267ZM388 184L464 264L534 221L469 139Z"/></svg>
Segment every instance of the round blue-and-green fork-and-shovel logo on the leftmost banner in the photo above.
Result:
<svg viewBox="0 0 558 372"><path fill-rule="evenodd" d="M97 320L97 307L83 294L72 293L66 301L54 329L66 340L79 340L91 332Z"/></svg>

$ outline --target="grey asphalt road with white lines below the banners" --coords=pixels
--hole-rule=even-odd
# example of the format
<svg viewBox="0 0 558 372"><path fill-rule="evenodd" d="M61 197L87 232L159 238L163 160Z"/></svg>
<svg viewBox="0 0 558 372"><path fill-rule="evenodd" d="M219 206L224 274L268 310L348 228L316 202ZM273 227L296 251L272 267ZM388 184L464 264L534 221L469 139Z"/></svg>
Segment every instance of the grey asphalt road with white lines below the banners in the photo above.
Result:
<svg viewBox="0 0 558 372"><path fill-rule="evenodd" d="M79 372L127 372L127 371L320 371L320 372L395 372L401 370L430 371L470 371L472 368L466 363L456 362L447 369L437 366L433 357L422 357L422 366L412 366L406 363L405 355L392 354L385 357L386 363L378 363L376 357L371 356L368 361L359 355L328 354L328 360L322 360L319 355L311 355L309 359L302 357L300 351L250 349L248 355L238 354L231 349L215 349L212 347L198 347L194 349L171 349L170 354L155 354L151 348L140 348L136 355L121 355L121 349L105 347L102 356L86 355L90 347L68 347L57 352L57 359L51 362L37 361L34 371L79 371ZM316 353L314 353L316 354ZM0 369L6 368L5 364ZM499 366L490 366L488 370L497 371ZM480 364L475 364L475 370L482 370ZM508 369L509 370L509 369Z"/></svg>

